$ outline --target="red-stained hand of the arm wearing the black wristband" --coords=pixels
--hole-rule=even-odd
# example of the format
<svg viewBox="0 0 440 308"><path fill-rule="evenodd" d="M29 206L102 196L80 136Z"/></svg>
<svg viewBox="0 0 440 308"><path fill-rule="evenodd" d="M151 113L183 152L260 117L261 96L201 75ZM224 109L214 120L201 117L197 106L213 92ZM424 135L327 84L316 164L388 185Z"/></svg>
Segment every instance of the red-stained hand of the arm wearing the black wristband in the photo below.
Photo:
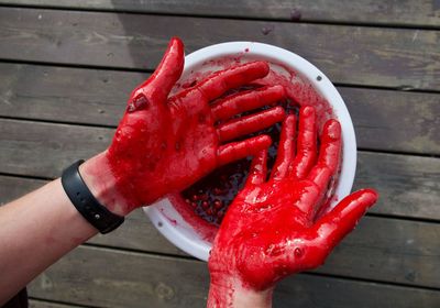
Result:
<svg viewBox="0 0 440 308"><path fill-rule="evenodd" d="M185 189L220 165L267 147L271 140L265 135L228 142L285 117L277 107L228 121L284 98L280 86L241 92L210 105L227 91L264 77L268 73L265 62L216 72L168 98L183 67L183 43L173 38L156 72L133 90L108 151L85 166L91 174L86 183L113 212L125 215L150 205Z"/></svg>

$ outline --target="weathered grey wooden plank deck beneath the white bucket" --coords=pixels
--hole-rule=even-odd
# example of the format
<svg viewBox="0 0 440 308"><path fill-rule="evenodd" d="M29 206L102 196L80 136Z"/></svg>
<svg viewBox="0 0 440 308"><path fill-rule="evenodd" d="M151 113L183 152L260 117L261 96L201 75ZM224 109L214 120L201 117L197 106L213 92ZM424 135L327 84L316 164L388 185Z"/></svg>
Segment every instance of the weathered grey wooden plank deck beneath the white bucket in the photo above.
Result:
<svg viewBox="0 0 440 308"><path fill-rule="evenodd" d="M0 0L0 201L106 148L170 36L187 53L265 42L333 80L355 125L355 188L381 194L324 266L279 284L274 307L440 307L440 2L388 2ZM204 307L208 283L206 263L136 211L29 293L35 308Z"/></svg>

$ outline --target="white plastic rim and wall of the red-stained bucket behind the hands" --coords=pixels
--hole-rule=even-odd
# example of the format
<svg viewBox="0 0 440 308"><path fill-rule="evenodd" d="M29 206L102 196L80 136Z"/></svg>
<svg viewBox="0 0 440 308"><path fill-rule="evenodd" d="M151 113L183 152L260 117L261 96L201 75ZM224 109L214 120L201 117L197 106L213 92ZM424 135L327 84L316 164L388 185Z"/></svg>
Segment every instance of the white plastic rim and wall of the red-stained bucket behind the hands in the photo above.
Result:
<svg viewBox="0 0 440 308"><path fill-rule="evenodd" d="M351 191L356 168L356 141L349 111L333 84L311 63L292 52L262 43L230 42L211 45L186 56L179 85L191 80L190 78L197 74L202 76L208 70L222 68L221 59L224 58L241 62L262 59L268 62L271 68L277 72L283 68L295 70L329 102L342 128L341 170L334 187L334 196L330 201L330 207L334 207ZM217 229L201 222L195 213L185 209L183 211L183 207L176 205L174 197L167 197L145 207L144 211L157 230L173 244L197 258L207 261Z"/></svg>

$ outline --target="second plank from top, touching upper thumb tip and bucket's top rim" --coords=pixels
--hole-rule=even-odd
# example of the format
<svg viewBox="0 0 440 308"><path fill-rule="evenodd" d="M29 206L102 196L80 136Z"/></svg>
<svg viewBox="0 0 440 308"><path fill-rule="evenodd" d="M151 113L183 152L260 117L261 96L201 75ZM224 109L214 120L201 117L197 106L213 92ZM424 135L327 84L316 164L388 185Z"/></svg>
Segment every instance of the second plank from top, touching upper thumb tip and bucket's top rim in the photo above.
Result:
<svg viewBox="0 0 440 308"><path fill-rule="evenodd" d="M0 29L3 59L152 69L170 36L187 52L260 41L296 52L336 82L440 89L436 31L4 7Z"/></svg>

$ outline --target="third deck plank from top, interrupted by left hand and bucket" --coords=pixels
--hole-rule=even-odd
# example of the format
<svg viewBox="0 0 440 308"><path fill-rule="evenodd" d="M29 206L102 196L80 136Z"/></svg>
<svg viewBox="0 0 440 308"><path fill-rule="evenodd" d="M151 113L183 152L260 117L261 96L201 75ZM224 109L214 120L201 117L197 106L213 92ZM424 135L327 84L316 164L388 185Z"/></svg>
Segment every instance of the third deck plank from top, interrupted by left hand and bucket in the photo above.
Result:
<svg viewBox="0 0 440 308"><path fill-rule="evenodd" d="M117 125L147 74L0 63L0 116ZM440 154L440 95L339 87L359 146Z"/></svg>

